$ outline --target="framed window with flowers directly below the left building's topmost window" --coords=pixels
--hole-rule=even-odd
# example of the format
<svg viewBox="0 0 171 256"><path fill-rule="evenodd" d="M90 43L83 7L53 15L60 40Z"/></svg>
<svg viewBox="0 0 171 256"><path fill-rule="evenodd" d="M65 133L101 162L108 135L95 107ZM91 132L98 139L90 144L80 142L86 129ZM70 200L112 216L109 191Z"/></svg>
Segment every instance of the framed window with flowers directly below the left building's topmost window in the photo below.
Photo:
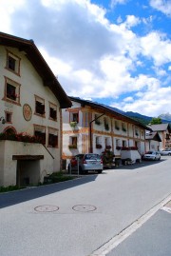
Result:
<svg viewBox="0 0 171 256"><path fill-rule="evenodd" d="M5 77L5 95L3 100L20 104L20 84Z"/></svg>

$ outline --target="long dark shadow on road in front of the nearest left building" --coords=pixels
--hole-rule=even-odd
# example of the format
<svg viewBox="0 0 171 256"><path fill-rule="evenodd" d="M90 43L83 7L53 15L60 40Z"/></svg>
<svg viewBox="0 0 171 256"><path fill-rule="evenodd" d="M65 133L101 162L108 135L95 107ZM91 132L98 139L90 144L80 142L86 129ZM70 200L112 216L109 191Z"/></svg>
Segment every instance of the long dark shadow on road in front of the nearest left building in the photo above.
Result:
<svg viewBox="0 0 171 256"><path fill-rule="evenodd" d="M81 185L84 185L85 183L95 181L97 176L98 176L97 174L87 175L81 179L78 178L78 179L70 180L67 182L50 184L47 186L40 186L40 187L29 187L29 188L25 188L17 191L2 193L0 194L0 208L10 207L12 205L26 202L28 200L32 200L32 199L46 196L48 194L55 193L64 189L68 189L70 187L81 186Z"/></svg>

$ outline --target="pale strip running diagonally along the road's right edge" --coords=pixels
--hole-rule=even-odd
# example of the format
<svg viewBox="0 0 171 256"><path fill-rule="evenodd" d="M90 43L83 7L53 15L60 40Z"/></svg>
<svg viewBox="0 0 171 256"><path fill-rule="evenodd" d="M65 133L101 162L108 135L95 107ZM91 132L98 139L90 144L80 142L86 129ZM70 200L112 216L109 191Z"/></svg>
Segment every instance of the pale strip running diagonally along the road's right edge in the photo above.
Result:
<svg viewBox="0 0 171 256"><path fill-rule="evenodd" d="M163 207L168 201L171 200L171 194L163 199L158 205L152 207L146 213L144 213L138 220L123 229L118 235L111 238L103 246L99 247L89 256L105 256L116 246L119 246L128 236L134 233L139 227L141 227L148 219L150 219L161 207Z"/></svg>

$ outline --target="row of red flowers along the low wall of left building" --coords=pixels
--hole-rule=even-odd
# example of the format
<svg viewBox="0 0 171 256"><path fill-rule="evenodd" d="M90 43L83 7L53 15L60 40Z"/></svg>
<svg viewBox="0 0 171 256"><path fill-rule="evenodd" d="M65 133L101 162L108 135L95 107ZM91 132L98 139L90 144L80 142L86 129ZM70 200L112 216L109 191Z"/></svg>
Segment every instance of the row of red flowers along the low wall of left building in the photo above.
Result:
<svg viewBox="0 0 171 256"><path fill-rule="evenodd" d="M43 143L43 139L37 136L31 136L27 133L0 133L0 140L10 140L18 142L28 142L28 143Z"/></svg>

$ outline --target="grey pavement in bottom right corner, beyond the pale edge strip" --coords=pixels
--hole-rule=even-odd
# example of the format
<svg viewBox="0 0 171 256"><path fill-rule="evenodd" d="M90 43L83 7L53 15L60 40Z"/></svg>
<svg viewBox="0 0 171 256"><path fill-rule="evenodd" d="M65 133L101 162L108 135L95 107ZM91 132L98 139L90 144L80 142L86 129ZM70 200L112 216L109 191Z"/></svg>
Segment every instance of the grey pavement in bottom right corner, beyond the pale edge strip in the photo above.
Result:
<svg viewBox="0 0 171 256"><path fill-rule="evenodd" d="M170 256L171 201L106 256Z"/></svg>

